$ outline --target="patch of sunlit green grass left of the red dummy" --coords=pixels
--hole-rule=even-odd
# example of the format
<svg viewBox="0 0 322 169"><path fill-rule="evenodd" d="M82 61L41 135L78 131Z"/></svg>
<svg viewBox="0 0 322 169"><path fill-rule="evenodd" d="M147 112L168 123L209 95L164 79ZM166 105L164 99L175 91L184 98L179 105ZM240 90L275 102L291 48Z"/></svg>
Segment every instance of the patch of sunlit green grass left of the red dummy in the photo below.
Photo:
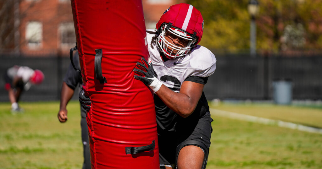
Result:
<svg viewBox="0 0 322 169"><path fill-rule="evenodd" d="M59 102L24 102L24 113L0 104L0 168L81 168L80 108L68 105L68 121L57 119Z"/></svg>

